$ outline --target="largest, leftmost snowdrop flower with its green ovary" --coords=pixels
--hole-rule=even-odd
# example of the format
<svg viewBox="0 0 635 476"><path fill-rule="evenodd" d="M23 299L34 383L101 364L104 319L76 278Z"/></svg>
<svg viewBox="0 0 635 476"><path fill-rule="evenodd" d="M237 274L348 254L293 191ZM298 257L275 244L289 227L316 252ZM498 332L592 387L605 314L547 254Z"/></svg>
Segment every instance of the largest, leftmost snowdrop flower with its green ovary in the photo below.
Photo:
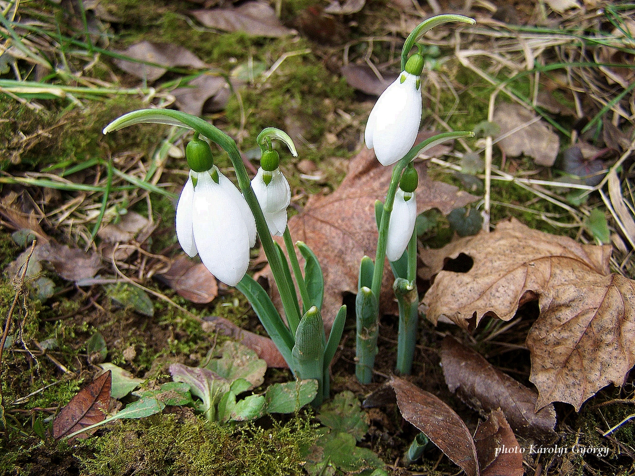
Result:
<svg viewBox="0 0 635 476"><path fill-rule="evenodd" d="M196 135L185 155L192 170L178 199L178 242L220 281L236 286L249 266L256 221L236 185L213 165L207 142Z"/></svg>

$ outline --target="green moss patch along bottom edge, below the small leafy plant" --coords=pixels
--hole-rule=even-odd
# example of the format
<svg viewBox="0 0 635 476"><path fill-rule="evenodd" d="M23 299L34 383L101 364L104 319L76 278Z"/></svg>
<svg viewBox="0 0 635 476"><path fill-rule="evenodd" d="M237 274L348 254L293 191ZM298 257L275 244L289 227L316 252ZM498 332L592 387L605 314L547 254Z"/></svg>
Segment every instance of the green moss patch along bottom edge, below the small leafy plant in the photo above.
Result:
<svg viewBox="0 0 635 476"><path fill-rule="evenodd" d="M95 455L83 458L83 466L95 476L302 475L300 451L314 439L311 423L300 418L265 430L157 415L93 439Z"/></svg>

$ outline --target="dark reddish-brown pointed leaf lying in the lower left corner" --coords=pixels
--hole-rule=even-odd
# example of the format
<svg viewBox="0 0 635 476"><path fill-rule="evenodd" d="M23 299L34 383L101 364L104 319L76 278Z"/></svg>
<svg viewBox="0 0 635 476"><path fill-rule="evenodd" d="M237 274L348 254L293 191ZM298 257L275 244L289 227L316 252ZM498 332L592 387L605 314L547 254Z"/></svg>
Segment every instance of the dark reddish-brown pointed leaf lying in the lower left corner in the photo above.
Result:
<svg viewBox="0 0 635 476"><path fill-rule="evenodd" d="M82 388L53 420L53 438L58 440L105 420L111 385L112 373L107 371ZM79 433L76 438L86 438L93 432L95 430Z"/></svg>

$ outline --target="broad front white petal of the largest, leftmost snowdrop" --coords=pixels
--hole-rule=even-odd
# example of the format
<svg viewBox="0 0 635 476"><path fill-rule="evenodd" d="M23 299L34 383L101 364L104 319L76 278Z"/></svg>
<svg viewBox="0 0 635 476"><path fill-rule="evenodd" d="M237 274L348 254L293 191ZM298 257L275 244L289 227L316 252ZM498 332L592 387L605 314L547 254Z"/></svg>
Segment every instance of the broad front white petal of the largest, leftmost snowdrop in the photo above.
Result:
<svg viewBox="0 0 635 476"><path fill-rule="evenodd" d="M249 266L248 230L236 206L236 194L215 183L207 173L201 174L196 186L192 225L205 267L220 281L236 286Z"/></svg>

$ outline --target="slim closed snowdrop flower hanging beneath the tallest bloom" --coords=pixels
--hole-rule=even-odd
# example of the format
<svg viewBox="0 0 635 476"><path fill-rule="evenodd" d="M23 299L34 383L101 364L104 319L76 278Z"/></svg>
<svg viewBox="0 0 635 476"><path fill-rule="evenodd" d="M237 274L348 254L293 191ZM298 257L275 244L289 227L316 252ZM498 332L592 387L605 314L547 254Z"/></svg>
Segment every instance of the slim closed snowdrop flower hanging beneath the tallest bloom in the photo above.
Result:
<svg viewBox="0 0 635 476"><path fill-rule="evenodd" d="M389 261L397 261L406 251L408 242L415 231L417 220L417 200L415 190L418 185L417 170L410 164L401 176L399 188L392 205L391 220L388 222L386 256Z"/></svg>

